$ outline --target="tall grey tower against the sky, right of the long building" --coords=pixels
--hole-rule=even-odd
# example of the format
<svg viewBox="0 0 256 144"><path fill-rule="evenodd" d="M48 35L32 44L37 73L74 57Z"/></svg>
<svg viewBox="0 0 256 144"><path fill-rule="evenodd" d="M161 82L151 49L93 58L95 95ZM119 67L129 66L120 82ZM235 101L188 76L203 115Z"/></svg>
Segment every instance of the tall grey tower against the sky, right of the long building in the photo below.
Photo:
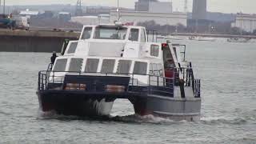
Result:
<svg viewBox="0 0 256 144"><path fill-rule="evenodd" d="M193 0L192 19L207 18L207 2L206 0Z"/></svg>

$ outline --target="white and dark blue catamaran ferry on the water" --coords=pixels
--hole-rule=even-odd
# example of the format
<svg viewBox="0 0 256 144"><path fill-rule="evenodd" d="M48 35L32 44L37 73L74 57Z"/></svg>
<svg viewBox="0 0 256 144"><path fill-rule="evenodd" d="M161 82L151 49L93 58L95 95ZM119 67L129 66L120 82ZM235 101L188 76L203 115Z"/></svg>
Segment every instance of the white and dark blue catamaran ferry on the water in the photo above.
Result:
<svg viewBox="0 0 256 144"><path fill-rule="evenodd" d="M78 41L38 73L40 109L98 117L122 98L138 115L198 121L201 82L186 61L186 46L148 37L142 26L83 26Z"/></svg>

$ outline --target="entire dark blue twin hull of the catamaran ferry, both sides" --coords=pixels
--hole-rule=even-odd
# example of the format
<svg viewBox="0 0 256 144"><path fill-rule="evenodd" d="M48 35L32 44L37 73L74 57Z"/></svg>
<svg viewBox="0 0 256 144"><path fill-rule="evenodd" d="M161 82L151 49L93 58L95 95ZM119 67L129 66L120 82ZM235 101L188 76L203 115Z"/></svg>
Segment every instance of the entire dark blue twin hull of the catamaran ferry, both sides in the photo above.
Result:
<svg viewBox="0 0 256 144"><path fill-rule="evenodd" d="M154 115L174 121L200 120L201 98L170 98L150 94L84 94L61 92L38 92L42 111L78 116L109 115L114 100L129 99L138 115Z"/></svg>

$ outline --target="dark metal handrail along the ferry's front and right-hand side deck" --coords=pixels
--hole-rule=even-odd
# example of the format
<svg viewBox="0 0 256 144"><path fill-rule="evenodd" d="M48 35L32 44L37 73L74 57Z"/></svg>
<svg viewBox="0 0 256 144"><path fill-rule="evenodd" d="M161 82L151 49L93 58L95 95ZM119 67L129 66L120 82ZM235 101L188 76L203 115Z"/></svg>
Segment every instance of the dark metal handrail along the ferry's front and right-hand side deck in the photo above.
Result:
<svg viewBox="0 0 256 144"><path fill-rule="evenodd" d="M120 74L120 73L99 73L99 72L81 72L81 71L49 71L49 70L42 70L38 73L38 90L47 90L48 83L64 83L64 76L56 76L55 73L66 73L66 74L78 74L78 75L90 75L90 74L99 74L104 76L129 76L130 82L129 86L144 86L147 87L148 94L153 94L154 92L162 92L165 94L170 94L173 96L174 92L174 86L177 86L176 83L178 82L180 86L180 77L176 74L179 74L179 70L182 70L183 73L185 73L185 70L189 71L189 75L183 76L183 78L186 78L186 84L184 86L190 86L189 83L192 83L192 88L194 91L194 97L200 98L200 92L201 92L201 82L200 80L195 80L193 75L192 68L174 68L174 77L173 78L166 78L162 76L156 76L152 74ZM143 75L148 76L148 82L147 83L139 83L138 79L135 78L135 75ZM177 77L176 77L177 76ZM128 90L129 90L128 86ZM154 87L161 87L162 90L154 90Z"/></svg>

